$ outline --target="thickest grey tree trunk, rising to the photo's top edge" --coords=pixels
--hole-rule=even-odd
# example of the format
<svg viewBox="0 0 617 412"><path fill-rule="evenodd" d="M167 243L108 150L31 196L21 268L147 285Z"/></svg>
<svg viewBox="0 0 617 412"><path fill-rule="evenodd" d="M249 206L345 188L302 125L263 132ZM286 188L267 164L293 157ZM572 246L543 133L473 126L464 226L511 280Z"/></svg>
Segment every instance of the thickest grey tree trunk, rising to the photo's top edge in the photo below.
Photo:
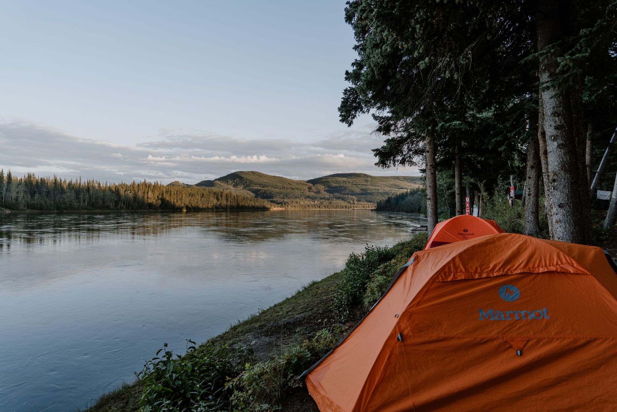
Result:
<svg viewBox="0 0 617 412"><path fill-rule="evenodd" d="M537 43L540 50L563 38L561 20L563 5L558 0L539 0L537 18ZM540 59L538 74L540 84L546 85L557 72L558 51ZM587 243L590 227L584 216L584 201L581 199L577 139L572 117L571 99L568 92L554 87L540 91L544 103L544 132L546 133L547 163L549 175L550 219L553 223L553 240Z"/></svg>

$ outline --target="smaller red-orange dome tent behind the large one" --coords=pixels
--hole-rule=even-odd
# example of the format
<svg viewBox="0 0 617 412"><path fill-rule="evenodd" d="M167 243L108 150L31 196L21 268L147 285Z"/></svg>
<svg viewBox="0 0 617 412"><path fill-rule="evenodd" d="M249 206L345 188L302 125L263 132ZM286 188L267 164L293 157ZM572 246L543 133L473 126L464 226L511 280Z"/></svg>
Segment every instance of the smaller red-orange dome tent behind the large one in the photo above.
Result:
<svg viewBox="0 0 617 412"><path fill-rule="evenodd" d="M492 235L493 233L505 233L505 231L495 221L461 214L436 224L424 249L447 245L447 243L459 242L460 240Z"/></svg>

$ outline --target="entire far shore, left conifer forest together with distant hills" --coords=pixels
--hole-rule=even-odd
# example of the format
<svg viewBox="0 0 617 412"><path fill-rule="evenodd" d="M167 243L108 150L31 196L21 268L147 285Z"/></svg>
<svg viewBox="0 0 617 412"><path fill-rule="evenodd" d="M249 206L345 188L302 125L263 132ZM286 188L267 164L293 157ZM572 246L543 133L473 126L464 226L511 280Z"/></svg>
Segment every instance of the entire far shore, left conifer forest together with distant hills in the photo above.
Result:
<svg viewBox="0 0 617 412"><path fill-rule="evenodd" d="M293 180L234 172L196 185L109 183L16 177L0 170L0 207L23 211L205 211L259 209L373 209L385 196L420 185L420 177L334 174Z"/></svg>

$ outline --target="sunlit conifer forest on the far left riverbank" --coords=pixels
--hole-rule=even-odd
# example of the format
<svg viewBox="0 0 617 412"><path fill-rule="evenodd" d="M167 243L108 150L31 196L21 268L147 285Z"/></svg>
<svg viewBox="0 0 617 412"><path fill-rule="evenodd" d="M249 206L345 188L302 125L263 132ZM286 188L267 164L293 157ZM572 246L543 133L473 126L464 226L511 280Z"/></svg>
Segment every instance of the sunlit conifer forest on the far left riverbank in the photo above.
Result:
<svg viewBox="0 0 617 412"><path fill-rule="evenodd" d="M0 207L35 210L210 210L270 209L267 200L252 193L218 188L162 185L150 182L107 183L96 180L67 180L15 177L0 170Z"/></svg>

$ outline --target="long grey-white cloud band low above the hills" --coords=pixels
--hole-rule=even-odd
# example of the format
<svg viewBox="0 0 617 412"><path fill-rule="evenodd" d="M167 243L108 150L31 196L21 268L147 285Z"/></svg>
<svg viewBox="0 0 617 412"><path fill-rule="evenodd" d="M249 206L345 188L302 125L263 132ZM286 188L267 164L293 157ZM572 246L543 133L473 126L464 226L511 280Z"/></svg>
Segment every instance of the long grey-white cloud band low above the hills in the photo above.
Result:
<svg viewBox="0 0 617 412"><path fill-rule="evenodd" d="M0 121L0 167L19 174L58 174L67 179L81 176L109 182L146 179L197 183L238 170L293 179L343 172L419 175L416 168L384 170L374 166L371 149L381 143L381 138L366 127L313 142L161 130L154 140L118 145L25 120L5 119Z"/></svg>

